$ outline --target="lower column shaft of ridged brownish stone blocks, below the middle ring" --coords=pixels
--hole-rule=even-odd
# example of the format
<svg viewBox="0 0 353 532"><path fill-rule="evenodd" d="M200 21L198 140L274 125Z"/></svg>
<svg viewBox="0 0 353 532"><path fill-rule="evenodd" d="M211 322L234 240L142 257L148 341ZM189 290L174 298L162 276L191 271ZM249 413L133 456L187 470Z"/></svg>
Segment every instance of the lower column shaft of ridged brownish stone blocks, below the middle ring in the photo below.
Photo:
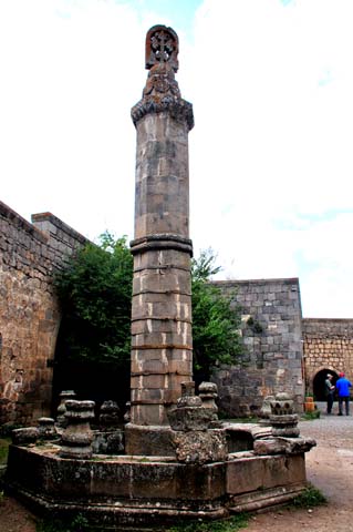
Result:
<svg viewBox="0 0 353 532"><path fill-rule="evenodd" d="M191 378L189 253L173 248L134 255L132 305L132 422L167 424ZM144 406L144 408L138 408Z"/></svg>

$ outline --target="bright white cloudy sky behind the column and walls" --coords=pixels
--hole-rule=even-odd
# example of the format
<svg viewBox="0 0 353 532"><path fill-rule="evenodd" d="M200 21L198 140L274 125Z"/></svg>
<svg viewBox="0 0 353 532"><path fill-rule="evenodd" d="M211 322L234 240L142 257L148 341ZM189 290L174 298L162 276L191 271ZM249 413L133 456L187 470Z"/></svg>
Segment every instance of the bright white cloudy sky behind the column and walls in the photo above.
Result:
<svg viewBox="0 0 353 532"><path fill-rule="evenodd" d="M0 0L0 200L133 237L145 34L179 35L195 254L352 318L352 0Z"/></svg>

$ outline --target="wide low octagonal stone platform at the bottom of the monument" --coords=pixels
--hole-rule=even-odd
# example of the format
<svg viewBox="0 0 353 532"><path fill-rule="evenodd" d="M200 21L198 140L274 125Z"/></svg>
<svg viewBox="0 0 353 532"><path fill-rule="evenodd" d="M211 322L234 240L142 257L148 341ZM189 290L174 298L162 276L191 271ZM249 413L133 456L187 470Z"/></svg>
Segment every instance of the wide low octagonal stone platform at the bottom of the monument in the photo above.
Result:
<svg viewBox="0 0 353 532"><path fill-rule="evenodd" d="M232 453L189 464L168 458L61 459L58 446L10 446L7 492L38 513L74 519L100 530L165 530L184 522L282 504L307 485L303 453Z"/></svg>

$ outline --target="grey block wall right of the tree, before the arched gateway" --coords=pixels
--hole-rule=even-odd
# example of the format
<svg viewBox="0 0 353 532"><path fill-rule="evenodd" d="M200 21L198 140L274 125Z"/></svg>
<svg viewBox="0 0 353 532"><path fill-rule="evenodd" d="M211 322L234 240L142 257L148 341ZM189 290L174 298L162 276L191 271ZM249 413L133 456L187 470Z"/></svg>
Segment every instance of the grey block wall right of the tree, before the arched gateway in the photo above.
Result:
<svg viewBox="0 0 353 532"><path fill-rule="evenodd" d="M246 347L239 365L221 367L212 376L220 409L230 417L257 413L266 396L287 391L301 411L304 385L299 279L224 280L215 285L225 294L235 293Z"/></svg>

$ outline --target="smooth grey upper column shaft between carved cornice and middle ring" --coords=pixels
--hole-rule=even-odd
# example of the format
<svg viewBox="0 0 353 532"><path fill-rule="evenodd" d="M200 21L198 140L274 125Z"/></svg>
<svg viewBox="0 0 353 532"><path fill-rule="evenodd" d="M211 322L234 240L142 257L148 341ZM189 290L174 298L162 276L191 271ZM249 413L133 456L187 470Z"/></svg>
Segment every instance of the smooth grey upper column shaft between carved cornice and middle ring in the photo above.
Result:
<svg viewBox="0 0 353 532"><path fill-rule="evenodd" d="M135 238L188 237L188 126L168 112L137 123Z"/></svg>

